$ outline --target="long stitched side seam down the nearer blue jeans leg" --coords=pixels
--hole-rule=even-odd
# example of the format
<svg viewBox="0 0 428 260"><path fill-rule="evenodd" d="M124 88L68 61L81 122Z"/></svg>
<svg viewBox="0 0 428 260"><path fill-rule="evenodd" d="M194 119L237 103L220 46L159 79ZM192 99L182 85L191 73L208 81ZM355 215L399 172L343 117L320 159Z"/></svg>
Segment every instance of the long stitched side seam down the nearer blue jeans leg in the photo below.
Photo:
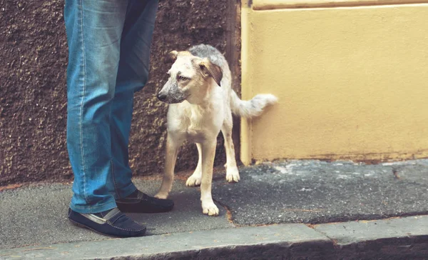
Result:
<svg viewBox="0 0 428 260"><path fill-rule="evenodd" d="M84 33L83 33L83 0L80 1L80 7L81 7L81 41L82 41L82 59L83 59L83 96L82 96L82 102L81 102L81 111L80 111L80 134L81 134L81 154L82 154L82 171L83 171L83 196L85 197L86 204L88 204L88 194L86 194L86 169L85 169L85 154L84 151L84 144L83 144L83 129L82 129L82 122L83 122L83 104L85 102L85 95L86 95L86 57L85 57L85 41L84 41ZM91 211L91 204L89 205L89 211Z"/></svg>

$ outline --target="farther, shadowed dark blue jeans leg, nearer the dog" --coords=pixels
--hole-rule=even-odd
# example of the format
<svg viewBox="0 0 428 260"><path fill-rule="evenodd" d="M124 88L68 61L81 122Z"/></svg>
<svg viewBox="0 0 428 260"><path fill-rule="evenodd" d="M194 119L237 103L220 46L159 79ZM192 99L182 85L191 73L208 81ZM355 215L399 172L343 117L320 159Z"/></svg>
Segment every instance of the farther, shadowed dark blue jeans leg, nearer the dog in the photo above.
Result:
<svg viewBox="0 0 428 260"><path fill-rule="evenodd" d="M131 131L133 94L148 81L151 40L157 0L131 0L121 41L116 92L111 108L111 152L116 199L136 191L128 164L128 139Z"/></svg>

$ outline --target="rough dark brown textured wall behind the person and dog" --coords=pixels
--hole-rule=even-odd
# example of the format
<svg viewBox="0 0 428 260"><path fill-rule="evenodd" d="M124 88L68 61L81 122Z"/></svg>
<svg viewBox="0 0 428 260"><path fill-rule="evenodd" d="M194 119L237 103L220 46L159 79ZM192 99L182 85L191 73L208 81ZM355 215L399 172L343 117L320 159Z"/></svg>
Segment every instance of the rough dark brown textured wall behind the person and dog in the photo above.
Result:
<svg viewBox="0 0 428 260"><path fill-rule="evenodd" d="M0 3L0 186L69 180L63 0ZM160 1L151 79L135 99L130 140L134 175L158 174L163 169L166 106L154 94L166 80L165 54L205 43L227 50L228 59L238 64L239 28L233 21L235 8L230 8L237 4L227 0ZM238 89L240 75L235 78ZM197 158L193 144L183 146L176 169L192 169ZM224 161L220 136L215 164Z"/></svg>

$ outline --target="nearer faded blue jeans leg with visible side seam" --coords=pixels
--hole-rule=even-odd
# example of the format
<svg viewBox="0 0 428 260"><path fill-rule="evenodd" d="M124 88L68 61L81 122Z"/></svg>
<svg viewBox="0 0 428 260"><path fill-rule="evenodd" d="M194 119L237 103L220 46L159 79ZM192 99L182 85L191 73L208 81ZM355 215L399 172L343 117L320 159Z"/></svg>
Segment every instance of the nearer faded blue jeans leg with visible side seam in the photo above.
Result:
<svg viewBox="0 0 428 260"><path fill-rule="evenodd" d="M116 207L111 175L111 109L128 1L66 0L67 148L74 174L71 209Z"/></svg>

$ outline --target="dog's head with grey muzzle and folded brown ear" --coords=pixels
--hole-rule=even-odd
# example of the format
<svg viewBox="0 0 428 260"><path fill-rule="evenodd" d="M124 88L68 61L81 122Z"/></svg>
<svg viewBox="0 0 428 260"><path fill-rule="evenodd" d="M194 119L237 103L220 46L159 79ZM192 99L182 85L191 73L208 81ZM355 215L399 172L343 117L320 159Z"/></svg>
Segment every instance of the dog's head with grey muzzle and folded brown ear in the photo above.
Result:
<svg viewBox="0 0 428 260"><path fill-rule="evenodd" d="M220 67L207 58L193 56L188 51L171 51L168 60L173 62L168 71L169 79L158 93L158 99L175 104L187 100L199 104L223 77Z"/></svg>

